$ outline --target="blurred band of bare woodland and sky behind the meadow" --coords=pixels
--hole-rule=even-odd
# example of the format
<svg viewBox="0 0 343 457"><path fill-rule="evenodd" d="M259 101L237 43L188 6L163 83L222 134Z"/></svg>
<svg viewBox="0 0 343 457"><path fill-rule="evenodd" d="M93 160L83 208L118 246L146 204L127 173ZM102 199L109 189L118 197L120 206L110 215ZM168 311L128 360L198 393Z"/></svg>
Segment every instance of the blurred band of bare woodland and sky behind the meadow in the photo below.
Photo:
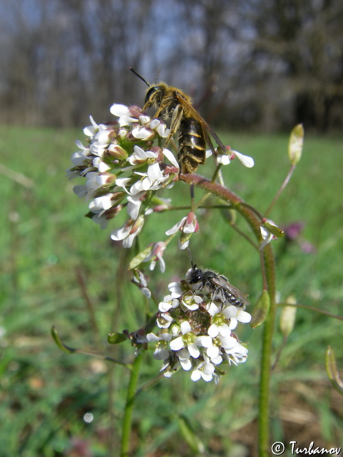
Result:
<svg viewBox="0 0 343 457"><path fill-rule="evenodd" d="M3 0L0 120L82 125L161 78L211 123L343 124L340 0Z"/></svg>

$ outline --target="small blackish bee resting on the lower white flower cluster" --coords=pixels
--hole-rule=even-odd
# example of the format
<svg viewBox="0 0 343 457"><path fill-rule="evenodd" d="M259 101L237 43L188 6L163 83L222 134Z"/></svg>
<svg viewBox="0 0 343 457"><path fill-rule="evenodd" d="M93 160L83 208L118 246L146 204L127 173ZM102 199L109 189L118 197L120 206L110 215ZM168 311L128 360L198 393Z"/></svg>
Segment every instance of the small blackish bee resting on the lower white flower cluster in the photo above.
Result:
<svg viewBox="0 0 343 457"><path fill-rule="evenodd" d="M211 300L220 300L222 303L234 305L239 309L244 309L248 305L245 293L234 287L224 275L220 275L212 270L201 270L193 265L191 252L192 268L186 273L186 281L189 285L195 285L194 293L204 290L209 293ZM193 290L193 289L192 289Z"/></svg>

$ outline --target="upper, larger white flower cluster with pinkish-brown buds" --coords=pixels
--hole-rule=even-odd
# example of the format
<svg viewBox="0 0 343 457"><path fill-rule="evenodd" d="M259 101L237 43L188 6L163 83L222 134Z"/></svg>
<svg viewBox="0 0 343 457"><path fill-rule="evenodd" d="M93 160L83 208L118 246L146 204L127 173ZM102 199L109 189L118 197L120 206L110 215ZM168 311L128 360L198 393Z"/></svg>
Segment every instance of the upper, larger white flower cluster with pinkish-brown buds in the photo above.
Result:
<svg viewBox="0 0 343 457"><path fill-rule="evenodd" d="M172 187L180 168L171 151L153 146L155 138L170 133L163 121L151 120L138 107L116 104L111 113L118 117L112 124L97 125L90 118L92 125L84 128L88 145L76 142L80 150L72 155L74 167L68 175L86 178L73 190L91 200L88 216L102 228L126 206L129 218L111 238L123 240L129 248L142 230L144 215L154 207L167 207L163 199L153 198L152 191Z"/></svg>

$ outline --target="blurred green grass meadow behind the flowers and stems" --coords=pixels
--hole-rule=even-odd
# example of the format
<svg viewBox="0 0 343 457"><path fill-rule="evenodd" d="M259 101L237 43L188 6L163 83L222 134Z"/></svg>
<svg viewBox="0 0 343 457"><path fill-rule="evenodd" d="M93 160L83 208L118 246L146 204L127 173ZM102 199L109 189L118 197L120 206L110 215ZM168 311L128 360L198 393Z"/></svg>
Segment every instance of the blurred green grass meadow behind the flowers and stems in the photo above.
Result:
<svg viewBox="0 0 343 457"><path fill-rule="evenodd" d="M106 231L83 217L87 207L72 192L77 182L64 177L76 150L74 140L82 139L80 130L2 127L0 138L1 163L33 182L27 187L6 173L0 181L0 456L101 457L109 455L109 442L117 455L128 371L99 358L61 352L50 328L56 325L70 346L132 360L129 343L109 346L106 341L109 332L138 329L145 306L153 309L130 284L125 267L128 252L109 240L111 229L122 224L124 215ZM235 161L224 177L228 187L263 213L288 172L288 136L232 134L223 135L223 140L255 158L253 169ZM343 295L342 144L339 137L305 137L303 157L270 214L280 226L304 223L296 241L273 242L280 300L293 294L303 305L334 314L341 313ZM210 160L206 167L212 167ZM196 196L200 198L200 190ZM175 205L188 205L188 189L181 182L168 197ZM163 240L164 232L183 216L184 211L162 217L152 214L140 247ZM230 229L220 211L202 211L198 217L201 232L192 238L196 263L226 274L249 293L254 305L262 287L258 255ZM246 229L242 221L237 224ZM303 252L304 240L314 252ZM150 274L161 298L170 280L184 275L190 264L176 243L168 247L165 259L166 273ZM341 329L338 320L298 310L272 380L274 441L343 444L341 399L325 372L327 345L342 366ZM262 329L242 328L239 335L248 343L248 360L228 369L218 386L193 383L180 372L142 391L134 412L134 455L194 455L180 426L184 420L201 436L209 455L254 455ZM282 344L278 329L274 341L277 350ZM159 369L160 363L148 351L140 385ZM83 420L87 412L93 414L90 423Z"/></svg>

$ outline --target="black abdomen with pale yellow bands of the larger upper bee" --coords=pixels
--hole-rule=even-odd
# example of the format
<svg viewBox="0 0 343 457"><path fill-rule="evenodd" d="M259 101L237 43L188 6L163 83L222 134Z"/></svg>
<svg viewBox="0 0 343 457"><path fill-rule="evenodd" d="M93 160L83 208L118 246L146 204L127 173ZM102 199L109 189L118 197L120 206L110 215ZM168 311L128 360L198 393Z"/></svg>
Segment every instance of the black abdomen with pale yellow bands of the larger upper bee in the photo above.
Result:
<svg viewBox="0 0 343 457"><path fill-rule="evenodd" d="M201 124L193 117L183 117L179 126L178 160L181 173L194 173L206 158L206 141Z"/></svg>

